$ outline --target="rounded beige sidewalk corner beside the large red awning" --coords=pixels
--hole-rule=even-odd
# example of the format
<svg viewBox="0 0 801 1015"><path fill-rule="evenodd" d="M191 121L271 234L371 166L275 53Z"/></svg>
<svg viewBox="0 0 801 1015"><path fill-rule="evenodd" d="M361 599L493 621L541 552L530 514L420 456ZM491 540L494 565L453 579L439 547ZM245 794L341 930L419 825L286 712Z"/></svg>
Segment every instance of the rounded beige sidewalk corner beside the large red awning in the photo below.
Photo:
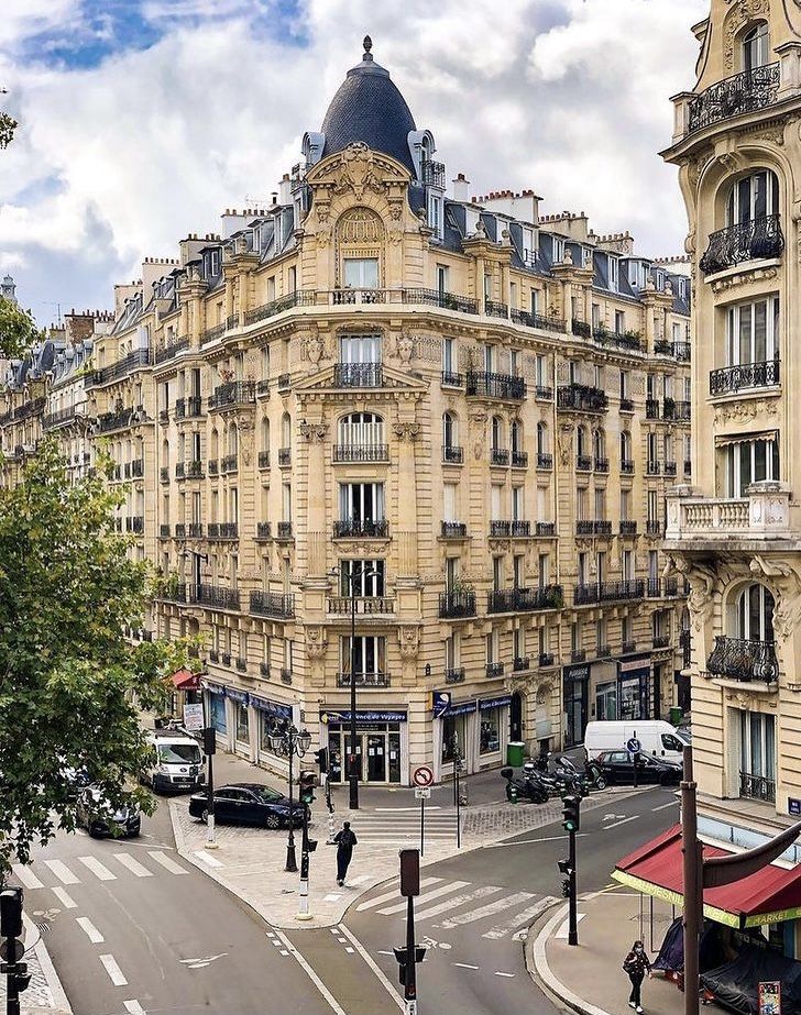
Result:
<svg viewBox="0 0 801 1015"><path fill-rule="evenodd" d="M655 898L651 935L650 900L643 898L640 922L640 898L623 887L580 898L578 946L568 945L567 904L550 909L531 927L525 945L533 979L581 1015L630 1015L623 960L640 939L654 961L673 920L672 907ZM683 994L661 973L643 982L648 1015L679 1015L683 1004Z"/></svg>

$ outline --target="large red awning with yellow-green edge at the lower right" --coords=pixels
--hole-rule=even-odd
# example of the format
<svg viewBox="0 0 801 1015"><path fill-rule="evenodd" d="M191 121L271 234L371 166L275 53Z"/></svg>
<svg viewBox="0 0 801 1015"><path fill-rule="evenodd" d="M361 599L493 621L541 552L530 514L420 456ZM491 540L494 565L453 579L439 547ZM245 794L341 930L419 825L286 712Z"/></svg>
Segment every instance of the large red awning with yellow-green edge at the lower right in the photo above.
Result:
<svg viewBox="0 0 801 1015"><path fill-rule="evenodd" d="M703 847L704 858L731 851ZM612 875L646 895L683 904L681 826L674 825L618 861ZM788 870L769 863L748 878L704 891L704 915L731 927L758 927L801 917L801 865Z"/></svg>

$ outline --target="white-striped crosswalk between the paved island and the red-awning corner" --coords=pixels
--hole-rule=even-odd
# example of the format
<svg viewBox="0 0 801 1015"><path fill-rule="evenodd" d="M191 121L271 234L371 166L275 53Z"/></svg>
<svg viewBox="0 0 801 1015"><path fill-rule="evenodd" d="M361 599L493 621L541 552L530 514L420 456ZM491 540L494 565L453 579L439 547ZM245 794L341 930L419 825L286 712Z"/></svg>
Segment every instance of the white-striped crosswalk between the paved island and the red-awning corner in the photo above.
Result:
<svg viewBox="0 0 801 1015"><path fill-rule="evenodd" d="M527 927L556 898L534 892L512 892L495 884L474 885L469 881L421 878L420 895L415 898L415 924L438 930L454 930L480 924L481 937L501 940ZM403 918L406 901L401 900L397 884L356 905L356 912Z"/></svg>

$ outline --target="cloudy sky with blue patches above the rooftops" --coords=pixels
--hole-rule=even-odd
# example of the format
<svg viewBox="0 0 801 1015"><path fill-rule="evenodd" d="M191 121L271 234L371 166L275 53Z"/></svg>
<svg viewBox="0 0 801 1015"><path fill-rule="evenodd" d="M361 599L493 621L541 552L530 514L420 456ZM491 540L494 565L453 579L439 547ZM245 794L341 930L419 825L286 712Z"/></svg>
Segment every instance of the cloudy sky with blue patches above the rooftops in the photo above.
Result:
<svg viewBox="0 0 801 1015"><path fill-rule="evenodd" d="M669 97L709 0L2 0L0 274L39 323L270 201L361 41L472 194L683 252Z"/></svg>

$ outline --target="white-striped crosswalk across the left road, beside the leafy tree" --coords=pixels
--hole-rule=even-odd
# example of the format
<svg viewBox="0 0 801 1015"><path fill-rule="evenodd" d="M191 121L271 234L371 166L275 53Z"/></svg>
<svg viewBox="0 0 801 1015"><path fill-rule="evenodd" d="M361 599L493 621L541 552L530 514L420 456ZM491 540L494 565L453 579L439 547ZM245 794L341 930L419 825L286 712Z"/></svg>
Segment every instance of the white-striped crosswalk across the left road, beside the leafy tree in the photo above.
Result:
<svg viewBox="0 0 801 1015"><path fill-rule="evenodd" d="M68 863L64 860L42 859L36 861L34 867L14 863L12 871L23 887L31 891L50 889L59 898L68 898L64 892L66 885L125 878L153 878L155 874L164 873L189 873L187 868L158 849L147 850L146 856L141 856L140 859L128 852L103 854L102 860L97 857L75 857L70 858Z"/></svg>

